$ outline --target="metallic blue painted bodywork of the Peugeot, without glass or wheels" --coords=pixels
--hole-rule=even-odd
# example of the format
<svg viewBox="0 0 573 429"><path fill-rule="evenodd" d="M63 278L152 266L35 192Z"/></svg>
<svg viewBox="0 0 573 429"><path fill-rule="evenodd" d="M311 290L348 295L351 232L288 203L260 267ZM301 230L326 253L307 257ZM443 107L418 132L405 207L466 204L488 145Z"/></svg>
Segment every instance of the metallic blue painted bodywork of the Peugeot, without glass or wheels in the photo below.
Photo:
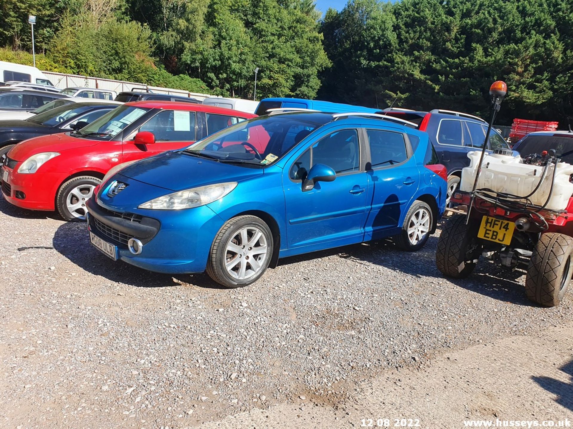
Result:
<svg viewBox="0 0 573 429"><path fill-rule="evenodd" d="M348 128L415 134L420 142L413 156L402 164L369 171L364 168L366 151L361 150L360 172L338 176L332 182L317 182L314 189L302 192L301 181L289 178L289 167L321 137ZM361 148L364 144L362 136ZM264 169L222 164L178 152L147 158L109 178L100 187L97 202L116 212L152 217L161 223L158 234L144 245L140 255L119 248L121 260L150 271L203 272L219 229L227 220L244 213L266 213L276 221L280 257L394 235L418 198L433 200L441 217L446 182L422 164L428 144L426 133L399 125L367 118L337 120L315 130ZM128 186L108 197L107 188L114 180ZM138 208L173 190L229 181L236 181L237 187L204 206L186 210ZM357 189L364 191L351 192Z"/></svg>

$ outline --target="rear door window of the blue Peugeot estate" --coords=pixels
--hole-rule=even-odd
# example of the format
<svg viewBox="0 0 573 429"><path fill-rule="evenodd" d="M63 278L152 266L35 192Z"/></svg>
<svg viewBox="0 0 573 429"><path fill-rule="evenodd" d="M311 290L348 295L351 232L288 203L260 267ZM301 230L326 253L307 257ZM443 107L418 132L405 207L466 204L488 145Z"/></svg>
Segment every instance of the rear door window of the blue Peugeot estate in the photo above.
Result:
<svg viewBox="0 0 573 429"><path fill-rule="evenodd" d="M399 164L408 159L406 141L402 133L386 130L366 130L370 145L372 168Z"/></svg>

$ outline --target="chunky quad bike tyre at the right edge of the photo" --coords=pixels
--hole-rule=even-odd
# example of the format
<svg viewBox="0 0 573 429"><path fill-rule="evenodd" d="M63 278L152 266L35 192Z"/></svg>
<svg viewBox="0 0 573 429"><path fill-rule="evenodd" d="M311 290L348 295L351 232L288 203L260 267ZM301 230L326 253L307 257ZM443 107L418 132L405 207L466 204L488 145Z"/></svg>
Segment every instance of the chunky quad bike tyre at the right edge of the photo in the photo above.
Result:
<svg viewBox="0 0 573 429"><path fill-rule="evenodd" d="M573 274L572 257L573 238L554 232L542 234L525 276L527 297L544 307L559 305Z"/></svg>

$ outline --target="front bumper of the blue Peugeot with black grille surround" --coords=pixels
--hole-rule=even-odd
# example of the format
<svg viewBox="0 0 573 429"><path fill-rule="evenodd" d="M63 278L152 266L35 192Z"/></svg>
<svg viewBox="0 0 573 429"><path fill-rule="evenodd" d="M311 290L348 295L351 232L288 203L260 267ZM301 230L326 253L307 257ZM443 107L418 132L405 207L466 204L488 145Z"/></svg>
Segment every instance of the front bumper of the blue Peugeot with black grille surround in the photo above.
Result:
<svg viewBox="0 0 573 429"><path fill-rule="evenodd" d="M211 243L223 225L221 217L207 206L127 213L101 205L96 198L90 198L86 206L89 231L116 245L118 259L160 273L205 271ZM132 237L143 243L139 255L127 247Z"/></svg>

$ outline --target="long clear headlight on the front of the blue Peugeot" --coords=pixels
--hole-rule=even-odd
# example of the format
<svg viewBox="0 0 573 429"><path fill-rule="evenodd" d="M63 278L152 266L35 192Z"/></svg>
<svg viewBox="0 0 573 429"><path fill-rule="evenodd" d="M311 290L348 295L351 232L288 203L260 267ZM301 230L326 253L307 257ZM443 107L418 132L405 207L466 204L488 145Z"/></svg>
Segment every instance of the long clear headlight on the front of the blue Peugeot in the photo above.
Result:
<svg viewBox="0 0 573 429"><path fill-rule="evenodd" d="M144 202L138 208L153 210L181 210L209 204L224 197L235 189L237 182L218 183L199 186L198 188L180 190L163 197Z"/></svg>

